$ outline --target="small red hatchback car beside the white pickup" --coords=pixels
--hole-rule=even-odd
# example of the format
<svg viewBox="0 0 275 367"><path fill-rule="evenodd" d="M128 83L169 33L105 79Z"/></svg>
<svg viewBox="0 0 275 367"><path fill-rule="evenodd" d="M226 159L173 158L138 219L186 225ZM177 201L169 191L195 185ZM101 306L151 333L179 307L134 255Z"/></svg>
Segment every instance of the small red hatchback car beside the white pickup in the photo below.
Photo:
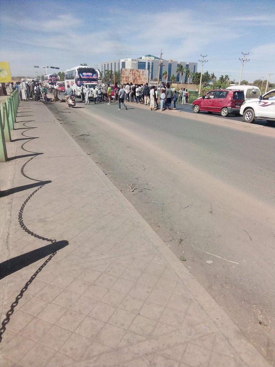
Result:
<svg viewBox="0 0 275 367"><path fill-rule="evenodd" d="M219 112L226 117L229 113L239 115L240 108L245 101L243 91L229 89L214 89L192 103L195 113L207 111L208 113Z"/></svg>

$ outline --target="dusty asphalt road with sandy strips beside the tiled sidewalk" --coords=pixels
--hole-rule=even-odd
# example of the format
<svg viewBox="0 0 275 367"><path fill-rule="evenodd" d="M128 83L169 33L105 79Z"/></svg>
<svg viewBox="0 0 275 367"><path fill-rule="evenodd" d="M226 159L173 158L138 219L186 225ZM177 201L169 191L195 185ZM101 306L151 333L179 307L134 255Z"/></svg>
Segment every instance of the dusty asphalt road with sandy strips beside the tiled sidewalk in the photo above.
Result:
<svg viewBox="0 0 275 367"><path fill-rule="evenodd" d="M47 106L275 365L275 130L135 104Z"/></svg>

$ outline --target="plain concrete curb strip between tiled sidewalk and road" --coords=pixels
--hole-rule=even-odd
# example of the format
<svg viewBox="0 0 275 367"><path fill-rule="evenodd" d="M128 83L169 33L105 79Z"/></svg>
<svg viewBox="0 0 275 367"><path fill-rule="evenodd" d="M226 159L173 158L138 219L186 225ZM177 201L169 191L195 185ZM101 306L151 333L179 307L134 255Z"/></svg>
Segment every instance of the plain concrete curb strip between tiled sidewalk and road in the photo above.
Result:
<svg viewBox="0 0 275 367"><path fill-rule="evenodd" d="M44 108L47 107L43 104ZM54 115L49 109L48 113L52 115L55 123L59 126L60 131L63 132L75 146L77 151L87 163L98 174L100 179L107 185L112 195L118 200L125 210L128 212L132 220L136 223L144 236L150 243L158 249L162 257L165 258L169 267L176 273L176 275L184 282L185 288L192 295L192 297L202 306L209 318L212 319L220 333L224 335L232 348L238 354L239 358L249 367L270 367L264 357L254 348L248 339L241 333L239 328L233 323L230 317L221 309L221 307L214 301L208 292L198 283L198 281L191 275L191 273L181 264L180 260L173 254L166 244L159 238L157 233L147 224L145 219L137 212L132 204L122 195L122 193L115 187L106 175L100 170L96 163L87 156L87 153L77 144L76 141L69 135L67 131L60 125Z"/></svg>

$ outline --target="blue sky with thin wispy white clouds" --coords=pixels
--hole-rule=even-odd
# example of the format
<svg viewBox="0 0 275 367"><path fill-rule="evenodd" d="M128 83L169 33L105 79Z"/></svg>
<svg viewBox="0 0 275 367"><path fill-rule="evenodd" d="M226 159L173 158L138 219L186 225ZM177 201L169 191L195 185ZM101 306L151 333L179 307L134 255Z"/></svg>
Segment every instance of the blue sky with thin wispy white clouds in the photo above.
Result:
<svg viewBox="0 0 275 367"><path fill-rule="evenodd" d="M1 0L0 61L12 76L137 58L198 62L217 78L275 82L274 0ZM201 69L198 62L198 71ZM51 70L51 69L49 69Z"/></svg>

